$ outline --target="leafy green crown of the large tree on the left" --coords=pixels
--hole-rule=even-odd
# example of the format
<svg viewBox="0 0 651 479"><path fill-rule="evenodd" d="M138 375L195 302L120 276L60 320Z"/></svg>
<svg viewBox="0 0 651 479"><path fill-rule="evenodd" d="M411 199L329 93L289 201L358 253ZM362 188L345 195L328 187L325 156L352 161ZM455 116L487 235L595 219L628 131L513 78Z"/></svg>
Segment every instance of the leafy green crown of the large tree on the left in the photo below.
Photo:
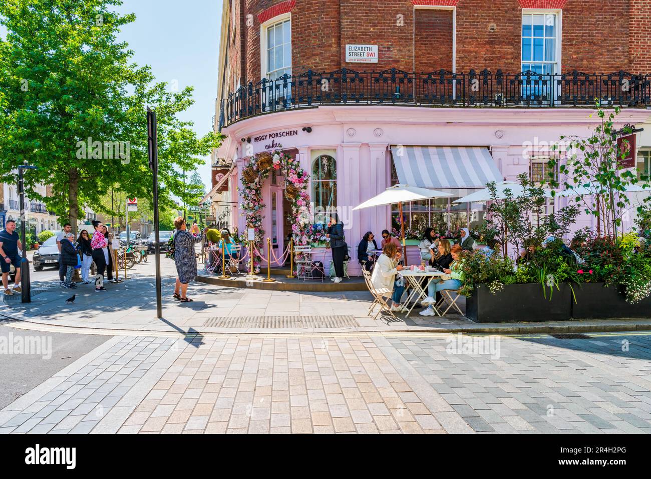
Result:
<svg viewBox="0 0 651 479"><path fill-rule="evenodd" d="M159 195L173 206L186 201L180 170L202 163L219 136L198 138L177 113L193 103L193 89L170 92L148 66L130 62L133 52L118 42L120 28L135 20L111 7L120 0L3 0L0 24L0 175L27 161L30 197L40 199L60 221L77 225L84 206L102 209L113 185L138 198L151 196L145 107L158 120ZM90 148L89 148L90 146ZM42 197L36 183L52 185ZM128 185L128 189L122 189Z"/></svg>

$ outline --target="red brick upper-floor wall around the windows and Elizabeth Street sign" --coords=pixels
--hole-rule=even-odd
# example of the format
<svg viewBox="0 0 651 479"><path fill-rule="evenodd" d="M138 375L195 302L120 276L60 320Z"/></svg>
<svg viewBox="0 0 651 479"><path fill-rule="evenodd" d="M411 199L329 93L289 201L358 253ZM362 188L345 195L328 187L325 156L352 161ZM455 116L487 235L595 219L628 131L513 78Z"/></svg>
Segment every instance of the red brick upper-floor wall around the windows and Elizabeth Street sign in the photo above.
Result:
<svg viewBox="0 0 651 479"><path fill-rule="evenodd" d="M240 22L229 61L243 84L256 82L260 80L258 14L283 0L232 1ZM520 71L522 1L458 0L457 72ZM249 14L250 26L246 24ZM451 21L450 11L413 10L411 0L298 0L292 9L292 72L342 67L411 72L414 63L417 71L450 69ZM345 63L346 44L377 44L379 62ZM651 0L567 0L562 10L561 63L563 72L651 72Z"/></svg>

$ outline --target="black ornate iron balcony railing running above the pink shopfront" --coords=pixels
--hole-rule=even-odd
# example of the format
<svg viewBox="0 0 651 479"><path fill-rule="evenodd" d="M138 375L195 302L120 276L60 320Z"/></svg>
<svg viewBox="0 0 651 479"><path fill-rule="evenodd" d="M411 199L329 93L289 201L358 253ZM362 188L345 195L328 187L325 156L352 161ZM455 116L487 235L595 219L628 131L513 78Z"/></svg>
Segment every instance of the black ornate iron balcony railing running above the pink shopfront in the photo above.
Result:
<svg viewBox="0 0 651 479"><path fill-rule="evenodd" d="M651 106L651 74L309 70L238 88L221 100L219 130L243 118L318 105L594 107L596 100L606 107Z"/></svg>

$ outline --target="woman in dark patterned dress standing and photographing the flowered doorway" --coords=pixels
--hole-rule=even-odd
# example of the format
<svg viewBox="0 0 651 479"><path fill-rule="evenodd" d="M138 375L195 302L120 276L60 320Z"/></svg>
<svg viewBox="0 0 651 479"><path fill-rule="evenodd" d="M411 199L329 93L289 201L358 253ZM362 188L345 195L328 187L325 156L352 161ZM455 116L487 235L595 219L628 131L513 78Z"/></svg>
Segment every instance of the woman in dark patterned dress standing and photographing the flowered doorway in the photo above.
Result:
<svg viewBox="0 0 651 479"><path fill-rule="evenodd" d="M194 281L197 276L197 254L195 245L201 243L199 226L193 225L187 231L186 220L178 217L174 220L174 263L176 263L176 284L174 285L174 297L182 303L192 301L186 297L187 283Z"/></svg>

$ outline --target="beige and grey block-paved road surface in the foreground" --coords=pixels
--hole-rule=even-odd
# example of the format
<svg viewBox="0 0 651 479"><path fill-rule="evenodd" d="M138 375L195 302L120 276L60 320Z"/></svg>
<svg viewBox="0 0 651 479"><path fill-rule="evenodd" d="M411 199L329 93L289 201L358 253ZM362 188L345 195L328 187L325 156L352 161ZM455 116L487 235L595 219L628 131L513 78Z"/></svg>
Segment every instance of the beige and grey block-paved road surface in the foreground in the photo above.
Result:
<svg viewBox="0 0 651 479"><path fill-rule="evenodd" d="M0 433L650 431L640 333L115 336L0 411Z"/></svg>

